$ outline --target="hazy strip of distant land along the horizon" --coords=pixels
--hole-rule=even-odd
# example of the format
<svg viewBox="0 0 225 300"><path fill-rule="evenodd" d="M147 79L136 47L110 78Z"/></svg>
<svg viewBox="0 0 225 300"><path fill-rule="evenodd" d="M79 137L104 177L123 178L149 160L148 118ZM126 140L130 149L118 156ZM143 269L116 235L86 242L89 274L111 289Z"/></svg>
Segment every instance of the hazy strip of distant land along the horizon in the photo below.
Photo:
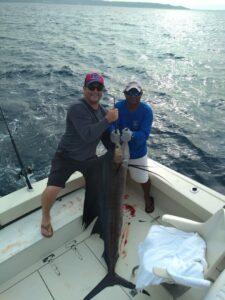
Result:
<svg viewBox="0 0 225 300"><path fill-rule="evenodd" d="M13 3L50 3L50 4L77 4L77 5L99 5L116 7L136 7L136 8L159 8L159 9L186 9L184 6L174 6L170 4L146 3L146 2L115 2L104 0L0 0L0 2Z"/></svg>

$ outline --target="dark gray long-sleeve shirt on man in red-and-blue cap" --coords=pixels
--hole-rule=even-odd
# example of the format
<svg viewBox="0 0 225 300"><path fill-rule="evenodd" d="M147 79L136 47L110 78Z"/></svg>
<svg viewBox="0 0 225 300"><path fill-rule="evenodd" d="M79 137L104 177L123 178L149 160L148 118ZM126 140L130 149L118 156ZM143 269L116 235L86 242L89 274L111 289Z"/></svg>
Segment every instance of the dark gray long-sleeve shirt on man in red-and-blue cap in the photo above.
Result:
<svg viewBox="0 0 225 300"><path fill-rule="evenodd" d="M109 127L102 108L92 109L81 99L69 107L66 131L57 152L65 157L84 161L93 157L103 132Z"/></svg>

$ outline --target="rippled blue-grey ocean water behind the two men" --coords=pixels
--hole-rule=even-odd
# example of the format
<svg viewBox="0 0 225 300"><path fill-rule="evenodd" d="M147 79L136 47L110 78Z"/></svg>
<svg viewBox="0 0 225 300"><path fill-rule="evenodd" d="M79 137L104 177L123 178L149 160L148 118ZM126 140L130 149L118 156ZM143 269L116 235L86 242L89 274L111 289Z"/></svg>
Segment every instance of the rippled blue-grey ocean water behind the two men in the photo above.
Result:
<svg viewBox="0 0 225 300"><path fill-rule="evenodd" d="M48 175L87 72L102 103L144 87L149 156L225 194L225 12L0 3L0 105L32 180ZM24 186L0 118L0 196Z"/></svg>

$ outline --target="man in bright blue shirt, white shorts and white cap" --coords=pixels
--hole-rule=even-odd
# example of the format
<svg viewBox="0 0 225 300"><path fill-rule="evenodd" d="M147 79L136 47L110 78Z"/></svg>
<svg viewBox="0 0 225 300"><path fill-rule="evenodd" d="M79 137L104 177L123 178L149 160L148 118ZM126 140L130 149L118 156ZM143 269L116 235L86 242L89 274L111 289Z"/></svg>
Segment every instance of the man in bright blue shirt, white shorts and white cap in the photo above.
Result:
<svg viewBox="0 0 225 300"><path fill-rule="evenodd" d="M111 140L114 143L128 142L129 165L137 166L129 166L129 172L131 178L141 184L145 211L151 213L154 210L154 199L150 197L151 183L148 171L142 170L141 167L146 168L148 164L147 140L152 127L153 112L149 104L141 102L143 90L138 82L129 82L123 92L126 99L118 101L115 105L119 119L114 123Z"/></svg>

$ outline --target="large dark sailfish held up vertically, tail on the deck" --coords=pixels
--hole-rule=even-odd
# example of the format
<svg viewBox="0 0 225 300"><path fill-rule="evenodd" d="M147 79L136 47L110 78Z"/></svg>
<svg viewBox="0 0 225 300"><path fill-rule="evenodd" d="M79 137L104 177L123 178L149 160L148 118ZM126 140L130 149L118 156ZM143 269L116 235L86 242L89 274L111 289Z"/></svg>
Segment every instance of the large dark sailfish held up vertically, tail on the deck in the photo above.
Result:
<svg viewBox="0 0 225 300"><path fill-rule="evenodd" d="M88 226L97 216L94 232L98 232L104 241L103 258L108 272L97 286L83 299L90 300L104 288L121 285L135 289L132 282L115 272L118 259L119 239L122 228L122 196L124 193L127 166L123 163L122 148L113 149L98 158L97 163L86 175L86 192L83 223Z"/></svg>

